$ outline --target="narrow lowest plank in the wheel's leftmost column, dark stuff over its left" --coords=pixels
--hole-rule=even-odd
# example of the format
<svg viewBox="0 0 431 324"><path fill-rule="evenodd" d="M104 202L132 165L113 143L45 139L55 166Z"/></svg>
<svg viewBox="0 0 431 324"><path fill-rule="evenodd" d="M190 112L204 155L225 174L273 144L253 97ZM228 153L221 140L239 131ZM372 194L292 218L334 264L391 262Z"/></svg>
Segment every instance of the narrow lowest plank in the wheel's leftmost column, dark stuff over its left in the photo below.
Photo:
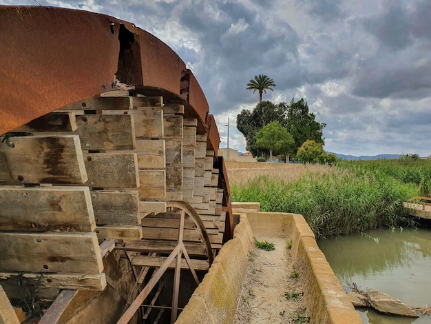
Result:
<svg viewBox="0 0 431 324"><path fill-rule="evenodd" d="M19 272L1 272L0 279L14 279ZM22 274L25 283L36 285L41 277L40 274ZM50 274L44 273L39 283L41 288L58 288L67 290L98 290L103 291L106 287L105 274Z"/></svg>

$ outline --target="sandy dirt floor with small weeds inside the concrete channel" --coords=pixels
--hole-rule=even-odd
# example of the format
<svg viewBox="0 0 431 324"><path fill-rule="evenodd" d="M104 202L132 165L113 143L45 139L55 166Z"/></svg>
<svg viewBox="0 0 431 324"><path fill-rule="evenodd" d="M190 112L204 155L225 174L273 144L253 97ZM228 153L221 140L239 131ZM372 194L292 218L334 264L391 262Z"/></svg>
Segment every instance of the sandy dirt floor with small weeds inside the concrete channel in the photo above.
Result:
<svg viewBox="0 0 431 324"><path fill-rule="evenodd" d="M302 287L286 240L265 236L256 239L275 243L275 250L255 248L250 252L234 323L308 323Z"/></svg>

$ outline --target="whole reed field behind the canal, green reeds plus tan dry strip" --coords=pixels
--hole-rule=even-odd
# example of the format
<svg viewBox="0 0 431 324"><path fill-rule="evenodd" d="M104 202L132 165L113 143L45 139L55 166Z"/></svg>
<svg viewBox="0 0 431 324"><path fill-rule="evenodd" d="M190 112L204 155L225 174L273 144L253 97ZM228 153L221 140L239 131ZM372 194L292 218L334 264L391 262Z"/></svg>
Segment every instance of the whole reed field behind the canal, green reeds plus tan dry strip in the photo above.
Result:
<svg viewBox="0 0 431 324"><path fill-rule="evenodd" d="M322 239L377 227L414 225L403 202L431 179L431 161L341 161L335 166L228 168L233 201L258 201L266 212L302 214Z"/></svg>

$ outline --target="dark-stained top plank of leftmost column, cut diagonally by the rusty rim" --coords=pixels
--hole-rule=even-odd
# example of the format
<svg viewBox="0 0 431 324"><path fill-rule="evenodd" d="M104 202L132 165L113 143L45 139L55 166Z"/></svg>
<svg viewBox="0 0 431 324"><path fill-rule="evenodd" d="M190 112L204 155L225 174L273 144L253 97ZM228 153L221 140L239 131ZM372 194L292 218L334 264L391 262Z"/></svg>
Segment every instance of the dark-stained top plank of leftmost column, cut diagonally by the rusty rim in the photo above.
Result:
<svg viewBox="0 0 431 324"><path fill-rule="evenodd" d="M69 111L50 112L16 128L14 132L74 132L76 129L76 113Z"/></svg>

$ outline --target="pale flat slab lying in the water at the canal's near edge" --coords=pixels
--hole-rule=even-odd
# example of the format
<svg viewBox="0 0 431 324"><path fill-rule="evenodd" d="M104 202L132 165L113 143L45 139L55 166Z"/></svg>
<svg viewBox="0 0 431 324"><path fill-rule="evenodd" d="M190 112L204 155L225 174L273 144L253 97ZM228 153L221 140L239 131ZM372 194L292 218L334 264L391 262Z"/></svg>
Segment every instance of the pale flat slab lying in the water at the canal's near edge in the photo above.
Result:
<svg viewBox="0 0 431 324"><path fill-rule="evenodd" d="M419 317L418 314L399 299L393 298L384 292L378 290L367 290L368 301L370 305L379 312L395 314L400 316Z"/></svg>

